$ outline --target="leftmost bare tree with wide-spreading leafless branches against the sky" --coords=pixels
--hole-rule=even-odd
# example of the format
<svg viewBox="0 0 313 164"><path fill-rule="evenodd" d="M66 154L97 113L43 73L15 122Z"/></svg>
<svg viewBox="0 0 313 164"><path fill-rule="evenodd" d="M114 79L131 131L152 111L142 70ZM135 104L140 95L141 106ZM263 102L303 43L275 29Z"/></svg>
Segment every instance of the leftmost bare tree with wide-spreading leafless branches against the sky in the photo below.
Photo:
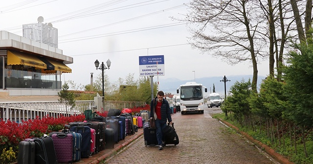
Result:
<svg viewBox="0 0 313 164"><path fill-rule="evenodd" d="M257 92L257 63L268 54L261 28L259 4L253 0L192 0L186 15L190 23L192 46L203 53L221 57L229 64L251 61L252 90Z"/></svg>

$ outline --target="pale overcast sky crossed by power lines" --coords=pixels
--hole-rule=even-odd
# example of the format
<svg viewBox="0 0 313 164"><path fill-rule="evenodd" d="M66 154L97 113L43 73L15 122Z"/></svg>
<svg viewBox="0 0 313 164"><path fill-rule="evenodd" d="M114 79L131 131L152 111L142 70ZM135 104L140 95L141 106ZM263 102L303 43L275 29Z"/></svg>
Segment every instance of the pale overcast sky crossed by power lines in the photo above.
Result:
<svg viewBox="0 0 313 164"><path fill-rule="evenodd" d="M184 18L189 0L5 0L0 7L0 30L22 36L22 25L51 22L58 29L59 49L73 57L72 73L62 81L89 84L90 73L101 74L95 60L112 62L106 70L111 82L134 73L139 78L139 56L164 55L165 76L194 80L224 75L252 75L249 62L227 65L188 44L187 27L174 18ZM268 75L268 62L258 66ZM195 72L193 72L195 71ZM154 81L157 78L154 77ZM160 88L161 90L162 88Z"/></svg>

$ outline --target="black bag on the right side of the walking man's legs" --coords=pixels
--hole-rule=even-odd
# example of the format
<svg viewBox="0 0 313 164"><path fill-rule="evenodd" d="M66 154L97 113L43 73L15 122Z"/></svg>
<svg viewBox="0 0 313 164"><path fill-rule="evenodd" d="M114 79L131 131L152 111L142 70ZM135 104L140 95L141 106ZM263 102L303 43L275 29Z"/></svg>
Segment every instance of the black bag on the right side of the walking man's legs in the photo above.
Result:
<svg viewBox="0 0 313 164"><path fill-rule="evenodd" d="M172 125L168 124L164 129L162 129L163 138L166 144L179 144L179 138L174 128L174 123Z"/></svg>

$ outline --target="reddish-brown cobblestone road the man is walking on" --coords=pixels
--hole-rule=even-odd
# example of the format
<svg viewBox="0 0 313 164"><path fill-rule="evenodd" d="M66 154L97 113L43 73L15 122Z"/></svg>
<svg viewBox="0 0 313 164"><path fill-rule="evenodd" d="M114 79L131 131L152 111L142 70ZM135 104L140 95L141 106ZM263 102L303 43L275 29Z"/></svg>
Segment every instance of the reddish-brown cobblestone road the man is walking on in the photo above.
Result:
<svg viewBox="0 0 313 164"><path fill-rule="evenodd" d="M215 110L215 111L214 111ZM204 114L173 114L179 144L145 146L143 136L107 164L275 164L245 138L212 119L218 108L206 108Z"/></svg>

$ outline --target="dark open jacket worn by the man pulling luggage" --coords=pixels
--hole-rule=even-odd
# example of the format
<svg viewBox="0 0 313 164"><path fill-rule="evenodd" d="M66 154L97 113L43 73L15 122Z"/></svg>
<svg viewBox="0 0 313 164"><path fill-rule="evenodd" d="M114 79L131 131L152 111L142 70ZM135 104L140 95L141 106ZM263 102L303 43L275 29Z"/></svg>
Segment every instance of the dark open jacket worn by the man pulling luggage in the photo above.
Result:
<svg viewBox="0 0 313 164"><path fill-rule="evenodd" d="M150 103L150 117L154 116L154 109L156 108L157 97L153 100ZM161 123L166 123L166 119L169 123L172 122L171 113L172 111L170 109L170 105L168 104L167 100L163 99L161 105Z"/></svg>

